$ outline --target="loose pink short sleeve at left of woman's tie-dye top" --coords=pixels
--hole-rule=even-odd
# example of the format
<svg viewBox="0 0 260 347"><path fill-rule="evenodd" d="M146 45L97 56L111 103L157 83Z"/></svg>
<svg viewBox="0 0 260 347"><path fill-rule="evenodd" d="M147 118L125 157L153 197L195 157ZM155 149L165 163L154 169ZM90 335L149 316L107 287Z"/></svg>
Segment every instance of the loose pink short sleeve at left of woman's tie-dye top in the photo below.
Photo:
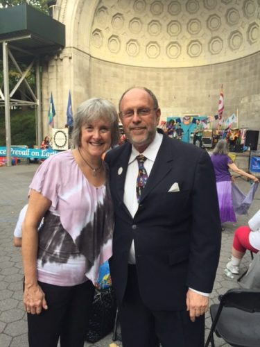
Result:
<svg viewBox="0 0 260 347"><path fill-rule="evenodd" d="M55 156L45 160L37 169L35 176L29 186L30 189L35 189L36 192L41 193L45 198L51 201L54 209L58 205L58 191L60 187L60 160L56 160Z"/></svg>

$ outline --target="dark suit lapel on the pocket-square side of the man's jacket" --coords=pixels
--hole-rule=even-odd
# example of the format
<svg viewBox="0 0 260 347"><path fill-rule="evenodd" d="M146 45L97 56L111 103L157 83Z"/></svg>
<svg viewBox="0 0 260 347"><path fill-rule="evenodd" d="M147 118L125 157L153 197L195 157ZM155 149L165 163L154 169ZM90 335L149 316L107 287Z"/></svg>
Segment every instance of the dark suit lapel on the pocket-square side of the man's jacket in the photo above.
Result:
<svg viewBox="0 0 260 347"><path fill-rule="evenodd" d="M171 170L173 170L173 140L164 135L153 164L153 169L150 171L146 187L144 187L144 191L141 194L140 203Z"/></svg>

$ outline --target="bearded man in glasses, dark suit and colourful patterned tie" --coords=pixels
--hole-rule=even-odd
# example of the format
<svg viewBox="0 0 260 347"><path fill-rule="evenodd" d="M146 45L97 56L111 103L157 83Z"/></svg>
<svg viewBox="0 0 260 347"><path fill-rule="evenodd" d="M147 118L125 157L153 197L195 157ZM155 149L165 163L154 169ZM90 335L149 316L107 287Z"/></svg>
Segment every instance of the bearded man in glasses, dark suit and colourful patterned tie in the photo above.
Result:
<svg viewBox="0 0 260 347"><path fill-rule="evenodd" d="M221 235L211 160L157 132L161 112L147 88L126 91L119 111L129 141L105 160L115 210L110 271L123 346L202 347Z"/></svg>

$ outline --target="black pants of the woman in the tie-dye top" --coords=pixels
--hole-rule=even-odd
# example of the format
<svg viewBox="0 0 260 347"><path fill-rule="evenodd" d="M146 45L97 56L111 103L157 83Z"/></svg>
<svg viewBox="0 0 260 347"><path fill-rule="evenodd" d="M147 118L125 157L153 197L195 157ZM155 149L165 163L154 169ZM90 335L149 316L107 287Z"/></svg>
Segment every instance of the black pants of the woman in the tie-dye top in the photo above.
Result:
<svg viewBox="0 0 260 347"><path fill-rule="evenodd" d="M88 280L73 287L39 282L48 310L27 314L30 347L83 347L94 298L94 286Z"/></svg>

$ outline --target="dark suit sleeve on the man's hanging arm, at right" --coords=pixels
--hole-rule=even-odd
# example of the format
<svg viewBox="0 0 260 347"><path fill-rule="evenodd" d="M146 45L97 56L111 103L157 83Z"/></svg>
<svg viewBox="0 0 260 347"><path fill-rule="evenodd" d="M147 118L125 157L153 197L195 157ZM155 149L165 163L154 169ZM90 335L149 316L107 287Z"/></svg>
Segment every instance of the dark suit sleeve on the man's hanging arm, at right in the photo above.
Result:
<svg viewBox="0 0 260 347"><path fill-rule="evenodd" d="M202 152L194 171L192 226L187 286L212 291L221 246L216 178L209 155Z"/></svg>

